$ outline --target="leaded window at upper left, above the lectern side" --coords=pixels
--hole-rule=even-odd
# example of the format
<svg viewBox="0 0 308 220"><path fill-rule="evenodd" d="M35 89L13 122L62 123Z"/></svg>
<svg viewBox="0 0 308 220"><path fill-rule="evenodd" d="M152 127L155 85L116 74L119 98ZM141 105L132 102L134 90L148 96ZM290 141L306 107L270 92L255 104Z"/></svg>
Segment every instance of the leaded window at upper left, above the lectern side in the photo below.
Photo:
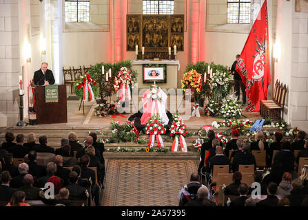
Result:
<svg viewBox="0 0 308 220"><path fill-rule="evenodd" d="M65 22L90 21L89 1L65 0Z"/></svg>

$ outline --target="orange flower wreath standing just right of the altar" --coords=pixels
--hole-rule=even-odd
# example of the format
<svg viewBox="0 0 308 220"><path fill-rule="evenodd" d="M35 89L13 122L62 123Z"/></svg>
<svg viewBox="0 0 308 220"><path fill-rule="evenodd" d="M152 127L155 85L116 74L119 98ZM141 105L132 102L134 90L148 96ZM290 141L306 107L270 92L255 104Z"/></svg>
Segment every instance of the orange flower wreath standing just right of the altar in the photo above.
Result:
<svg viewBox="0 0 308 220"><path fill-rule="evenodd" d="M185 89L190 85L191 87L196 88L196 92L200 94L202 87L202 76L196 72L196 70L191 69L183 75L181 85L183 91L185 91Z"/></svg>

